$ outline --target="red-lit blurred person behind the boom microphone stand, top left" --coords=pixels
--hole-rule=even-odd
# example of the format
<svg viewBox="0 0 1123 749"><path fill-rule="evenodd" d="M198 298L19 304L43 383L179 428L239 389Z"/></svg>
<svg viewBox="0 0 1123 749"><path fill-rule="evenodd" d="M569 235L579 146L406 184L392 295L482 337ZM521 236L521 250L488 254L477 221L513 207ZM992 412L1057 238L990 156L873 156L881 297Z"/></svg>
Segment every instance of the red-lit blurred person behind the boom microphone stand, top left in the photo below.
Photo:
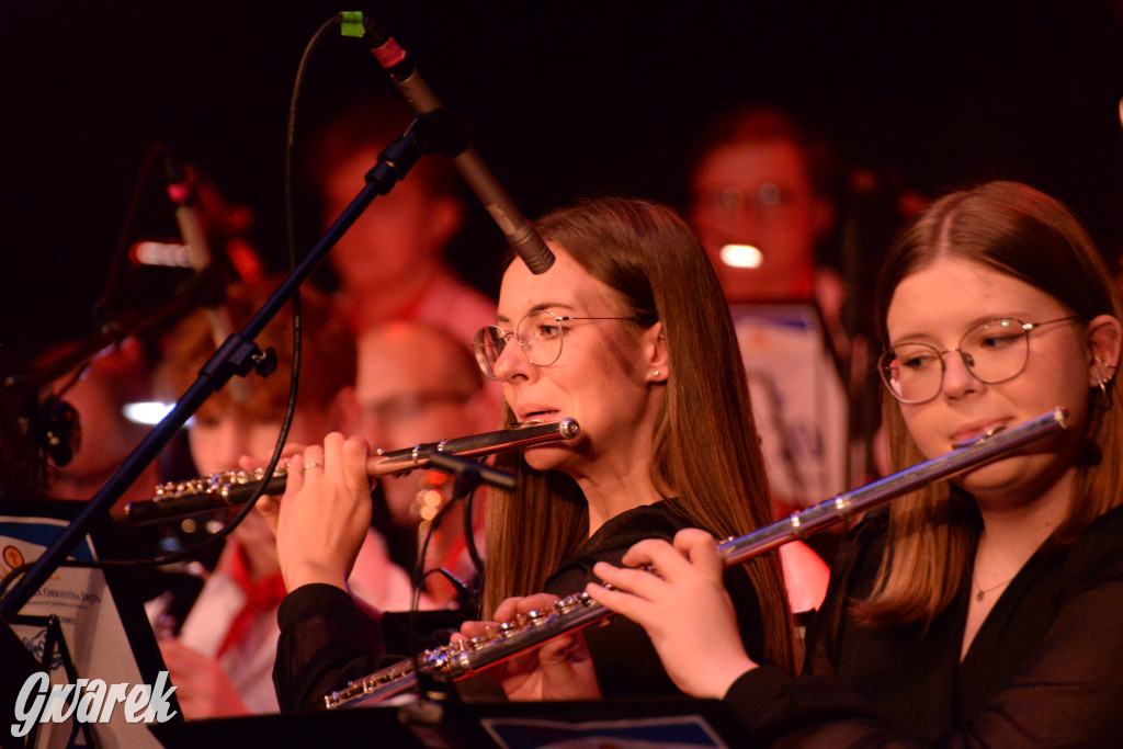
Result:
<svg viewBox="0 0 1123 749"><path fill-rule="evenodd" d="M412 112L393 92L355 100L320 125L304 176L327 228L366 184L378 154L409 127ZM495 318L495 302L457 276L445 257L460 231L464 204L446 159L422 157L404 180L372 202L328 255L336 298L356 334L394 320L418 320L458 340Z"/></svg>

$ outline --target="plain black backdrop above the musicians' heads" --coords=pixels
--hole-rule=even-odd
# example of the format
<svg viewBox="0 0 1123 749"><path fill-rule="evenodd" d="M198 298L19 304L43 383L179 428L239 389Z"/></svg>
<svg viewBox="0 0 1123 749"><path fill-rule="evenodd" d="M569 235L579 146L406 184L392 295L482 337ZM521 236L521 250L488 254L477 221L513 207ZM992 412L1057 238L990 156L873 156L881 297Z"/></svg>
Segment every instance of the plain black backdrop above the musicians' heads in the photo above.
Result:
<svg viewBox="0 0 1123 749"><path fill-rule="evenodd" d="M694 128L763 98L887 183L934 194L1017 179L1068 202L1105 252L1123 237L1117 1L0 0L9 362L90 329L157 140L252 207L263 252L282 264L296 65L344 9L371 12L413 55L528 216L602 191L678 201ZM313 57L308 107L380 86L362 44L334 36ZM453 259L494 291L502 239L473 211ZM171 220L149 201L135 231Z"/></svg>

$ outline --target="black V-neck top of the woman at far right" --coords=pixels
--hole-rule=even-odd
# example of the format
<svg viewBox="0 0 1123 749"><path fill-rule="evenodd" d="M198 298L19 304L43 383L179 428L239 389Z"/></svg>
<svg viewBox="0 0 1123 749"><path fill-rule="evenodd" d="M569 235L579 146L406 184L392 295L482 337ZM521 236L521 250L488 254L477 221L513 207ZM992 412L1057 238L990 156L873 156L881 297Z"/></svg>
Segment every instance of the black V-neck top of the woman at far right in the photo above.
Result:
<svg viewBox="0 0 1123 749"><path fill-rule="evenodd" d="M1046 544L959 654L970 569L949 609L877 629L847 614L885 548L884 512L849 536L809 634L807 675L741 676L725 703L761 741L797 746L1119 746L1123 741L1123 508L1072 546Z"/></svg>

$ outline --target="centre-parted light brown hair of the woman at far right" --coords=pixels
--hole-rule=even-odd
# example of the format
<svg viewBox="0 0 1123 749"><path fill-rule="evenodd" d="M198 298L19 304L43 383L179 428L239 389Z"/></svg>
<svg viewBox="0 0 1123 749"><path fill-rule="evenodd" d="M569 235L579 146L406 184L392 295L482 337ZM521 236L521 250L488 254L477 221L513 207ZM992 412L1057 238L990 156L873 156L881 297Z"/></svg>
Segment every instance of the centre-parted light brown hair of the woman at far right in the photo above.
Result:
<svg viewBox="0 0 1123 749"><path fill-rule="evenodd" d="M897 237L877 283L878 323L897 285L938 257L978 263L1040 289L1089 321L1121 317L1111 274L1079 220L1062 203L1016 182L990 182L944 197ZM1068 513L1052 535L1067 544L1095 518L1123 502L1123 407L1117 389L1089 410L1085 453ZM1089 391L1099 394L1098 389ZM896 401L884 395L893 469L924 459L909 435ZM955 599L979 532L970 495L950 484L928 486L895 500L882 567L871 596L856 605L880 624L931 621Z"/></svg>

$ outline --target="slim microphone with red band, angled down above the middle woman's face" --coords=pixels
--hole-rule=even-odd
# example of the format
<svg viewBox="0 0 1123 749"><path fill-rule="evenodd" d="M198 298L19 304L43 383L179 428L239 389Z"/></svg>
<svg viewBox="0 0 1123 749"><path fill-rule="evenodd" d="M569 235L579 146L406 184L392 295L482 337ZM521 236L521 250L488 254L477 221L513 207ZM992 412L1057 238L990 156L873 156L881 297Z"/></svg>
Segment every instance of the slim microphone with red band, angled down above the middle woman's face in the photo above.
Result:
<svg viewBox="0 0 1123 749"><path fill-rule="evenodd" d="M386 34L377 24L364 17L364 38L371 45L378 64L390 74L398 90L418 115L427 115L442 109L437 95L418 73L405 51ZM483 203L492 219L499 225L511 249L522 258L531 273L545 273L554 265L554 253L538 236L530 222L523 218L514 202L500 186L495 175L484 164L475 148L464 139L464 147L458 153L445 154L468 183L476 198Z"/></svg>

